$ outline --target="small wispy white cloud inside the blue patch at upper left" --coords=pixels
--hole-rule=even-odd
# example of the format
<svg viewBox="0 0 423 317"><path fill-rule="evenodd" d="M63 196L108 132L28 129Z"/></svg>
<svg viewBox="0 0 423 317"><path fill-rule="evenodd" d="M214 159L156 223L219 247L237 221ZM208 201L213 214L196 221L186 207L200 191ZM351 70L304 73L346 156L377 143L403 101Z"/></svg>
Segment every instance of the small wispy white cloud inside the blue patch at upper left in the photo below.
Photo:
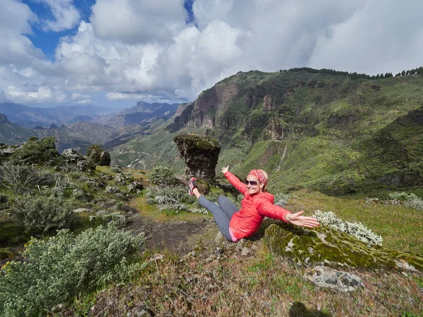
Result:
<svg viewBox="0 0 423 317"><path fill-rule="evenodd" d="M59 32L72 29L80 22L80 13L73 6L73 0L35 0L50 7L54 20L42 20L46 31Z"/></svg>

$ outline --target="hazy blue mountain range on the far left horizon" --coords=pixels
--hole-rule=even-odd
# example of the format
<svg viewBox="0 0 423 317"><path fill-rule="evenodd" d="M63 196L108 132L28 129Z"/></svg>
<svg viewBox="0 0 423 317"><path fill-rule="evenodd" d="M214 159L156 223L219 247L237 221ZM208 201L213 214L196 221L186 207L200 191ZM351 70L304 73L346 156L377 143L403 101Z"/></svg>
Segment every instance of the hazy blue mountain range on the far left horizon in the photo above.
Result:
<svg viewBox="0 0 423 317"><path fill-rule="evenodd" d="M111 112L109 108L100 108L91 105L57 106L54 108L37 108L22 104L0 104L0 113L4 113L12 123L24 128L43 126L48 128L51 124L62 125L76 122L75 117L90 118L91 122L98 122L105 113Z"/></svg>

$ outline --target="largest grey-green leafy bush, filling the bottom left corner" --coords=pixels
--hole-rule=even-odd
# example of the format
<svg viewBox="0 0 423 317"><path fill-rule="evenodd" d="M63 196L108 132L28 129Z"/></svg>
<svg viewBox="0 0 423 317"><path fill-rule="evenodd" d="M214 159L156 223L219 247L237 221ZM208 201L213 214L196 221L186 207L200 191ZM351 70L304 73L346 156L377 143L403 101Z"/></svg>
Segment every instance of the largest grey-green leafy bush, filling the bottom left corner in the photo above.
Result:
<svg viewBox="0 0 423 317"><path fill-rule="evenodd" d="M56 304L66 304L108 282L131 278L141 263L128 256L143 244L142 235L114 226L88 229L78 237L60 230L48 240L32 238L24 261L6 263L0 274L0 316L46 316Z"/></svg>

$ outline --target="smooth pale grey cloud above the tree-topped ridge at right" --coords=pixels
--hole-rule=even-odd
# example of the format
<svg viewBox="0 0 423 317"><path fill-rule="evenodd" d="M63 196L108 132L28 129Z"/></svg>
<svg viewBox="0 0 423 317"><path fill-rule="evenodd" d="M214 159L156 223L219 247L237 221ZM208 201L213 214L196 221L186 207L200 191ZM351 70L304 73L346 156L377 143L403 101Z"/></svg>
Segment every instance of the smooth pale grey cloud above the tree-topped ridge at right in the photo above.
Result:
<svg viewBox="0 0 423 317"><path fill-rule="evenodd" d="M423 66L422 12L422 1L367 1L317 37L309 65L374 75Z"/></svg>

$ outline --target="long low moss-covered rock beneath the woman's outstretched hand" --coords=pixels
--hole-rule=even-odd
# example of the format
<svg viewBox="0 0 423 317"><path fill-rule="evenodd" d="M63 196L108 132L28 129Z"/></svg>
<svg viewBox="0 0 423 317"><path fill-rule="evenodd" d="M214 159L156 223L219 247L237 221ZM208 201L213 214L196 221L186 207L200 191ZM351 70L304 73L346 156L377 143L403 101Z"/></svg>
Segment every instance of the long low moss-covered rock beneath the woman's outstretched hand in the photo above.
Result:
<svg viewBox="0 0 423 317"><path fill-rule="evenodd" d="M338 268L391 268L423 272L422 254L367 244L324 225L308 230L287 223L272 224L266 229L265 241L274 254L299 266L323 264Z"/></svg>

